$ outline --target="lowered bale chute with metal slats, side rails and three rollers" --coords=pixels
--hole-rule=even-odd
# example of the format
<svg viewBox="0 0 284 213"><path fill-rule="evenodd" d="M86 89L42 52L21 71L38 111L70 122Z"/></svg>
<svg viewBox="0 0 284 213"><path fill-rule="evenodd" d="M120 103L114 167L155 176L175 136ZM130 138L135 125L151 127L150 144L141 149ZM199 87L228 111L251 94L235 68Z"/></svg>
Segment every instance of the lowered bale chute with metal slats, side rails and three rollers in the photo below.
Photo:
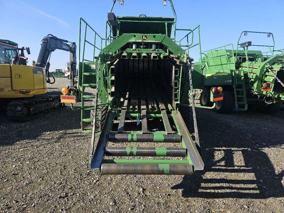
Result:
<svg viewBox="0 0 284 213"><path fill-rule="evenodd" d="M165 81L129 76L116 91L116 104L107 113L91 159L92 169L102 174L157 175L191 175L203 170L185 123L159 82Z"/></svg>

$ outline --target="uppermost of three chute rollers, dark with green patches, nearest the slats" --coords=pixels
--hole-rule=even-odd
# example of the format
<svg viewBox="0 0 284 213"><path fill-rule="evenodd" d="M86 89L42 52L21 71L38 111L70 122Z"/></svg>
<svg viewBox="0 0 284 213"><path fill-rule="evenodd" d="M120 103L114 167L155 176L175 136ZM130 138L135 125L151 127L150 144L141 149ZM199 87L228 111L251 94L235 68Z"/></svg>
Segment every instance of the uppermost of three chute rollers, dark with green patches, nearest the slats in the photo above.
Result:
<svg viewBox="0 0 284 213"><path fill-rule="evenodd" d="M180 135L163 134L109 134L109 142L181 142Z"/></svg>

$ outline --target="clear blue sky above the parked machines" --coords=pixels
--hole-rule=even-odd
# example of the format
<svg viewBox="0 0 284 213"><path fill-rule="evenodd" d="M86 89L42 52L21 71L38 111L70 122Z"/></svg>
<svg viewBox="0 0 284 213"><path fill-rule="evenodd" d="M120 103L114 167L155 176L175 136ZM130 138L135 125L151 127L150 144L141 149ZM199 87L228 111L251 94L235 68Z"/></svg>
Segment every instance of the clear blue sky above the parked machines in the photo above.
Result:
<svg viewBox="0 0 284 213"><path fill-rule="evenodd" d="M242 31L271 32L275 48L284 48L284 0L173 0L177 28L194 29L200 25L202 51L226 44L236 47ZM273 3L271 3L273 2ZM101 36L105 35L107 12L112 0L0 0L0 38L19 47L29 46L29 64L36 61L41 39L47 34L79 42L79 19L86 20ZM124 0L113 12L118 16L173 17L170 4L162 0ZM252 36L252 35L248 35ZM178 34L177 38L182 34ZM271 44L271 37L243 37L253 44ZM247 40L246 40L247 39ZM78 49L77 49L78 52ZM190 51L198 61L198 48ZM78 56L77 56L78 59ZM50 71L65 68L69 52L56 50L50 59Z"/></svg>

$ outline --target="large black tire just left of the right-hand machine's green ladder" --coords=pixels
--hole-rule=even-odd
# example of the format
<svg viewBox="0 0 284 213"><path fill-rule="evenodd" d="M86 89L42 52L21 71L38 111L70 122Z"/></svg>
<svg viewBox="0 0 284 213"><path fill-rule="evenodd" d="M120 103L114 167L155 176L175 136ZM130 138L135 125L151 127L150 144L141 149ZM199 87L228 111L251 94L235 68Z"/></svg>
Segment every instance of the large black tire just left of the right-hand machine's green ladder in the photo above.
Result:
<svg viewBox="0 0 284 213"><path fill-rule="evenodd" d="M218 113L230 113L235 108L235 97L230 91L223 92L223 101L215 103L214 110Z"/></svg>

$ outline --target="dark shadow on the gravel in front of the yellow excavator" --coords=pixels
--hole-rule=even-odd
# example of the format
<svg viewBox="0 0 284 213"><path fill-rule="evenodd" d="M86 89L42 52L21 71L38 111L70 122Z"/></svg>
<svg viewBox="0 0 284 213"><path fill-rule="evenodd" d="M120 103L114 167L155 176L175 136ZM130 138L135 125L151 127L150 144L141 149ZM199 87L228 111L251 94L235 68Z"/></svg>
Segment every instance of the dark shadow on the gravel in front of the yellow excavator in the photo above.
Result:
<svg viewBox="0 0 284 213"><path fill-rule="evenodd" d="M4 113L1 113L0 121L0 146L12 145L22 140L35 140L43 133L56 134L59 135L58 138L81 137L77 132L64 132L81 128L80 111L73 111L70 107L51 109L23 123L10 121Z"/></svg>

